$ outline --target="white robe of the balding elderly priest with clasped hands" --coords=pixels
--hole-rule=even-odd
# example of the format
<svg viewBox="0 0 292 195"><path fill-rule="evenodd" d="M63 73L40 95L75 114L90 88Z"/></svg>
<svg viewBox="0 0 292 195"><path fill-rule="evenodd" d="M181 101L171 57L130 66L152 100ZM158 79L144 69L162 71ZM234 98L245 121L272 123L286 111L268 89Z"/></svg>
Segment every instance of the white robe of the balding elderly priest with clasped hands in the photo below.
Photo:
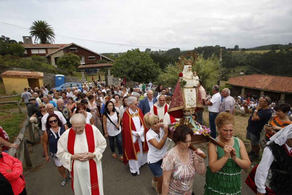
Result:
<svg viewBox="0 0 292 195"><path fill-rule="evenodd" d="M94 126L91 125L93 128L93 135L95 141L95 158L93 160L96 163L96 170L98 176L98 186L99 186L99 194L103 195L103 182L102 182L102 167L101 167L101 158L102 153L105 151L107 146L105 138L102 136L100 131ZM69 129L66 130L58 141L58 152L57 157L61 161L62 165L68 169L69 171L72 170L72 162L71 154L68 152L67 143L68 143L68 135ZM77 135L75 137L75 144L74 144L74 153L79 152L88 152L88 145L85 130L82 134ZM81 162L78 160L74 161L73 167L73 175L74 175L74 194L75 195L84 195L88 194L91 195L91 183L90 183L90 169L89 169L89 161Z"/></svg>

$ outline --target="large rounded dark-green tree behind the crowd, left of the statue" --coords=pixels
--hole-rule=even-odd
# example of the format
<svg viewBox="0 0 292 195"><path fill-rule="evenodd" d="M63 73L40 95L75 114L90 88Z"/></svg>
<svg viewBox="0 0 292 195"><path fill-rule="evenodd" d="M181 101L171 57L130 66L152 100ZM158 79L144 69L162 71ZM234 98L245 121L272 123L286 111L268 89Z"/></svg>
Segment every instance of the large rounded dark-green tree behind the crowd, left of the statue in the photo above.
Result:
<svg viewBox="0 0 292 195"><path fill-rule="evenodd" d="M149 82L157 80L161 69L146 52L132 49L117 58L111 72L115 77L127 77L128 80L135 82Z"/></svg>

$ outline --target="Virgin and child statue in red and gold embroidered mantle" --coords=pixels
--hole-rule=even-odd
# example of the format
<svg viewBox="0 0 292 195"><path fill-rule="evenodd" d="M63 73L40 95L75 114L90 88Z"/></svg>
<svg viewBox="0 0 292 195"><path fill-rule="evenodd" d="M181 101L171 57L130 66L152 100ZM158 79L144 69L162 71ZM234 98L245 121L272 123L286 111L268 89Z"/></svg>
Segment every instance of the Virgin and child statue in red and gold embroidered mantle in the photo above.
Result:
<svg viewBox="0 0 292 195"><path fill-rule="evenodd" d="M179 74L168 109L169 115L175 118L183 118L183 123L187 124L192 114L203 109L201 94L197 87L198 83L198 76L192 73L192 64L186 62L183 72Z"/></svg>

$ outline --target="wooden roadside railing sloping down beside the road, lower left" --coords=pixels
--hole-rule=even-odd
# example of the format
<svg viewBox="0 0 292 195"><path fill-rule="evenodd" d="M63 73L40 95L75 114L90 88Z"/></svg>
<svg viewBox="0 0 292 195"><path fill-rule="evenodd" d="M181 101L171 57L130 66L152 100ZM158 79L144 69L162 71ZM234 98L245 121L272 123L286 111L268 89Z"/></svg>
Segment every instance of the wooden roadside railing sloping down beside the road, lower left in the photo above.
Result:
<svg viewBox="0 0 292 195"><path fill-rule="evenodd" d="M32 166L32 162L30 160L29 151L27 148L26 140L25 140L25 132L29 126L31 126L31 123L29 121L30 117L27 117L24 124L22 125L18 135L16 136L18 139L13 140L13 144L19 144L18 148L18 159L24 164L23 159L25 160L25 165L28 167ZM31 134L31 131L29 132ZM30 135L32 137L32 135ZM16 156L17 149L10 148L8 150L8 154L11 156Z"/></svg>

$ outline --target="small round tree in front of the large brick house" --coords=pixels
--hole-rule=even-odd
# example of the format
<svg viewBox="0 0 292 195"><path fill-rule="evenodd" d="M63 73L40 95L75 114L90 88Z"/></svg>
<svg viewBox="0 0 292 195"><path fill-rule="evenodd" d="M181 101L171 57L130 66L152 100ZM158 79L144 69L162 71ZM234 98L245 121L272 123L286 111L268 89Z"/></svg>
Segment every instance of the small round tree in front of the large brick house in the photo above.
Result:
<svg viewBox="0 0 292 195"><path fill-rule="evenodd" d="M70 75L77 70L79 65L81 65L79 56L72 53L67 53L57 60L58 68L67 70Z"/></svg>

